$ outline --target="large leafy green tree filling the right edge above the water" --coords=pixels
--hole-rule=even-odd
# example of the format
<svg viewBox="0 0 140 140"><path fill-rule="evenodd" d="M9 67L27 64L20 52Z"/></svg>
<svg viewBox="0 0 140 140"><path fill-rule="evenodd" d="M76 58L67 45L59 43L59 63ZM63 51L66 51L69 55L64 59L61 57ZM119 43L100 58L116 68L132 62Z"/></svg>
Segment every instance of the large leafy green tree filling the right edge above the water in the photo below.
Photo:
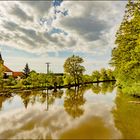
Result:
<svg viewBox="0 0 140 140"><path fill-rule="evenodd" d="M129 1L124 19L116 33L117 47L112 51L118 83L127 92L140 94L140 1ZM131 88L130 88L131 87ZM135 94L134 93L134 94Z"/></svg>

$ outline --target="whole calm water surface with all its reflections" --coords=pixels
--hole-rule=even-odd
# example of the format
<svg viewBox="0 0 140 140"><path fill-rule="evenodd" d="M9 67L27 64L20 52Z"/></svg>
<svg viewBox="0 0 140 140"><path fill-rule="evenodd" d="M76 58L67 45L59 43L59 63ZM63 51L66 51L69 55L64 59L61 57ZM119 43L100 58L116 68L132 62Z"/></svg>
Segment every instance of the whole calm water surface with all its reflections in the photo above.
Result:
<svg viewBox="0 0 140 140"><path fill-rule="evenodd" d="M0 96L0 138L140 139L140 104L114 87L103 83Z"/></svg>

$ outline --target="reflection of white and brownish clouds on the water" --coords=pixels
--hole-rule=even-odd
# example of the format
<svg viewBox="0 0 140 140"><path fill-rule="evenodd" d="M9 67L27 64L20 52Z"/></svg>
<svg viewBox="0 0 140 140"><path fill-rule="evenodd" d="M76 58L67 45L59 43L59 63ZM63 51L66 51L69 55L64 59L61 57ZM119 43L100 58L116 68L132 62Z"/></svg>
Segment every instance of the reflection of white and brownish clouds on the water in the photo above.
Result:
<svg viewBox="0 0 140 140"><path fill-rule="evenodd" d="M64 100L65 96L59 100ZM84 113L79 118L69 115L65 107L57 102L48 111L44 110L44 104L36 103L27 109L15 108L4 112L0 116L0 138L121 138L110 112L115 95L96 95L87 90L84 98Z"/></svg>

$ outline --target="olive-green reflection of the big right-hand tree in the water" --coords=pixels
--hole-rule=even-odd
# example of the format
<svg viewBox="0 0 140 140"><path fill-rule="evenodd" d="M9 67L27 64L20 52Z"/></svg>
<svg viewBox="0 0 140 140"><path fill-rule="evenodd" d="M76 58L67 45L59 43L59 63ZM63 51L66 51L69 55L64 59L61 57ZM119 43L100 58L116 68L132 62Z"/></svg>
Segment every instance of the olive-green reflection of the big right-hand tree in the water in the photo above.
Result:
<svg viewBox="0 0 140 140"><path fill-rule="evenodd" d="M118 93L112 113L123 139L140 139L140 99Z"/></svg>

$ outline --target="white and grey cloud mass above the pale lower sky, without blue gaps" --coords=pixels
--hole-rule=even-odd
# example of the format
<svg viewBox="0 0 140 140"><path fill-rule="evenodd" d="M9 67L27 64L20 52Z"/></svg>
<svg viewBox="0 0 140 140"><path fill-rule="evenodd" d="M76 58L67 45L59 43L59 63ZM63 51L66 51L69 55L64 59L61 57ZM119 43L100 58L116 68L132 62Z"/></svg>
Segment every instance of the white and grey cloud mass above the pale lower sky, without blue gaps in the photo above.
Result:
<svg viewBox="0 0 140 140"><path fill-rule="evenodd" d="M92 53L95 47L107 47L113 40L112 28L120 22L124 2L119 6L118 2L63 2L60 9L68 9L69 15L58 16L52 27L62 28L68 36L47 35L39 25L41 17L52 15L50 6L50 2L41 1L1 2L0 44L33 53L69 49Z"/></svg>

